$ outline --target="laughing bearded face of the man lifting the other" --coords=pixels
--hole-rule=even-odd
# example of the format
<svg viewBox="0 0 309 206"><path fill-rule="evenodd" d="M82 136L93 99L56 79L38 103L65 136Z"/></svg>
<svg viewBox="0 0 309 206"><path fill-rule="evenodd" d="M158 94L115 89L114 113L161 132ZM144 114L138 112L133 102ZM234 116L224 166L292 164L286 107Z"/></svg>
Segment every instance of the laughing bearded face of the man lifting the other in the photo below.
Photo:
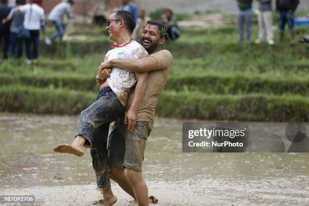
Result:
<svg viewBox="0 0 309 206"><path fill-rule="evenodd" d="M161 31L158 26L147 24L144 28L143 33L140 35L141 45L147 50L149 54L164 43L164 38L160 38Z"/></svg>

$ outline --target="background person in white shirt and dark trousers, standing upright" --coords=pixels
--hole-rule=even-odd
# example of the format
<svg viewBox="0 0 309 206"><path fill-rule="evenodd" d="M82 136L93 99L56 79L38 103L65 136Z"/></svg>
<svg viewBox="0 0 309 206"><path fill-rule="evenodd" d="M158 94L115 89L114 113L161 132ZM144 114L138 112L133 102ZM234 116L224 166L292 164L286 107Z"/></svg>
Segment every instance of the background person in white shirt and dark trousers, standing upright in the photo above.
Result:
<svg viewBox="0 0 309 206"><path fill-rule="evenodd" d="M37 61L40 28L45 36L45 15L44 10L39 6L40 2L40 0L30 0L30 4L21 6L18 9L25 13L24 27L30 32L30 37L26 39L27 59L25 62L27 64Z"/></svg>

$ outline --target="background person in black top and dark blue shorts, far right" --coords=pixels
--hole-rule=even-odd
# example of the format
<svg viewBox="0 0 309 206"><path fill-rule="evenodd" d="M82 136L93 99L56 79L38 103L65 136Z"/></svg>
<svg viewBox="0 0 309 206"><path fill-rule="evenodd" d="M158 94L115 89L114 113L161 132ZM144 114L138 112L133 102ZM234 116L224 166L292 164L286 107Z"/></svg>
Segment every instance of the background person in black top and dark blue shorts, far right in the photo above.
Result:
<svg viewBox="0 0 309 206"><path fill-rule="evenodd" d="M284 28L287 24L291 31L291 45L295 44L294 12L299 4L299 0L277 0L276 10L278 13L278 23L280 29L280 42L283 41Z"/></svg>

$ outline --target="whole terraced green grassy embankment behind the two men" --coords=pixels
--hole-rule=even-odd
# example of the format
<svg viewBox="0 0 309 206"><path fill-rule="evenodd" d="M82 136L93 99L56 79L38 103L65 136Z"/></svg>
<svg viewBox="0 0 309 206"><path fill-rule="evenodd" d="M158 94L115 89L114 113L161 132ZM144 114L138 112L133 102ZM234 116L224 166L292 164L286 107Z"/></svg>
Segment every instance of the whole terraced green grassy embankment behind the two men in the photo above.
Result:
<svg viewBox="0 0 309 206"><path fill-rule="evenodd" d="M297 38L305 32L297 29ZM101 29L74 34L86 34L87 39L52 46L41 43L36 64L1 63L1 112L76 114L94 100L97 67L111 42ZM157 114L308 121L309 45L290 47L288 39L275 46L236 41L236 26L183 28L177 42L165 45L174 62Z"/></svg>

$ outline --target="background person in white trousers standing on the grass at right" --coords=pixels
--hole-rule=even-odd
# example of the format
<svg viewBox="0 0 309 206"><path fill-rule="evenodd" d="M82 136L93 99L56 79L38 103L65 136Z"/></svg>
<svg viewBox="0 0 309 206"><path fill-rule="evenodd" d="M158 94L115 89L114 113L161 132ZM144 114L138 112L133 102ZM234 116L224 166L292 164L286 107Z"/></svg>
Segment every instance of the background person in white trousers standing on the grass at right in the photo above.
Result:
<svg viewBox="0 0 309 206"><path fill-rule="evenodd" d="M274 44L274 32L273 32L273 13L272 13L272 0L258 0L259 5L259 38L255 40L255 43L261 43L266 40L268 44Z"/></svg>

